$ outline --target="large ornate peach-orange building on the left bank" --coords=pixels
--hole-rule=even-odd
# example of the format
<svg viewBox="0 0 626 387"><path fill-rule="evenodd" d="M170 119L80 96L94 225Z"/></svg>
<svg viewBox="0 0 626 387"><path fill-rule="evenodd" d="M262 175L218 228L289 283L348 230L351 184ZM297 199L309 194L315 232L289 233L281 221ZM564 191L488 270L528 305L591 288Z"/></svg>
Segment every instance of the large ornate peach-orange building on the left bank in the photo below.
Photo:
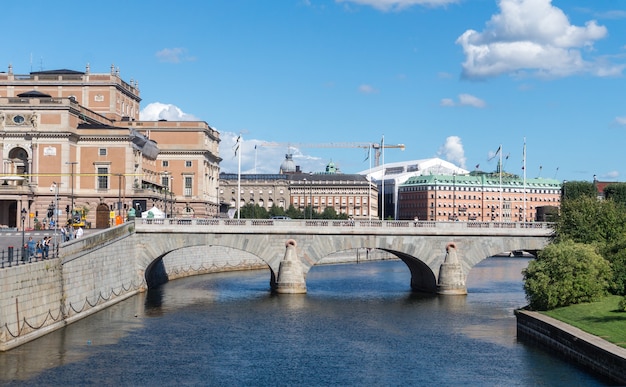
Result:
<svg viewBox="0 0 626 387"><path fill-rule="evenodd" d="M99 228L131 208L216 215L219 132L139 121L140 102L138 83L114 66L0 73L0 227L45 227L56 203L52 219L76 209Z"/></svg>

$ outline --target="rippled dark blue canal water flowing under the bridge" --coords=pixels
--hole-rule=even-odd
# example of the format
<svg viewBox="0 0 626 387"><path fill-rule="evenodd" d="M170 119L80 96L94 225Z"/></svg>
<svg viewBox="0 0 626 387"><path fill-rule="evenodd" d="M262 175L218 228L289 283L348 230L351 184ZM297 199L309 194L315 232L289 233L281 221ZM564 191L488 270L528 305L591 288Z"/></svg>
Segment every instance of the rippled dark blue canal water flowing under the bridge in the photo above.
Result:
<svg viewBox="0 0 626 387"><path fill-rule="evenodd" d="M599 386L516 339L523 258L472 269L467 296L410 291L400 261L179 279L0 353L2 385Z"/></svg>

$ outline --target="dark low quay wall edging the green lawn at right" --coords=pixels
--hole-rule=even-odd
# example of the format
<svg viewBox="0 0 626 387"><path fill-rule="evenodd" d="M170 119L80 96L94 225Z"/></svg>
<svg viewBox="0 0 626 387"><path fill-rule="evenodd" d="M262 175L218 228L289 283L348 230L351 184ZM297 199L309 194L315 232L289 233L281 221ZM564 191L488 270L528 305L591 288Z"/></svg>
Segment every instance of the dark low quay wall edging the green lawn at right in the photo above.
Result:
<svg viewBox="0 0 626 387"><path fill-rule="evenodd" d="M517 337L611 383L626 385L626 349L537 312L516 310Z"/></svg>

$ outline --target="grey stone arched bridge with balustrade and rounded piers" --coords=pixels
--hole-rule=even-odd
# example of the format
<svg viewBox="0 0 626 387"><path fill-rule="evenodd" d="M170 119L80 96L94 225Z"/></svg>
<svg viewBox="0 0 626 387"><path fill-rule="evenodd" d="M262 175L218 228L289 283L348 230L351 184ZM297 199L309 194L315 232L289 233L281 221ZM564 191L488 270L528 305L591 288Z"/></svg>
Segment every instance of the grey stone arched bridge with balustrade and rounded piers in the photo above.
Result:
<svg viewBox="0 0 626 387"><path fill-rule="evenodd" d="M465 278L478 262L505 251L541 250L552 229L536 222L143 219L135 234L149 288L167 281L161 261L167 254L222 246L265 262L278 293L305 293L306 274L330 254L380 249L407 265L412 289L465 294Z"/></svg>

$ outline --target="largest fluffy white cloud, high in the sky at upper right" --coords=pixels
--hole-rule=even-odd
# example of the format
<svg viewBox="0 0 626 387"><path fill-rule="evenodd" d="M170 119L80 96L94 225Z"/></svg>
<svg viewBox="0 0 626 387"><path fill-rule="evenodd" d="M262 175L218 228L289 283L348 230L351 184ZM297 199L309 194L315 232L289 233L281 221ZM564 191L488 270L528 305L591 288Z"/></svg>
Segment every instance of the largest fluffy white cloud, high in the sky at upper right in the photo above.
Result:
<svg viewBox="0 0 626 387"><path fill-rule="evenodd" d="M488 78L528 72L535 76L563 77L576 73L618 75L624 66L590 62L582 51L607 36L595 20L584 26L570 24L551 0L500 0L500 13L483 32L465 31L456 41L463 47L463 76Z"/></svg>

